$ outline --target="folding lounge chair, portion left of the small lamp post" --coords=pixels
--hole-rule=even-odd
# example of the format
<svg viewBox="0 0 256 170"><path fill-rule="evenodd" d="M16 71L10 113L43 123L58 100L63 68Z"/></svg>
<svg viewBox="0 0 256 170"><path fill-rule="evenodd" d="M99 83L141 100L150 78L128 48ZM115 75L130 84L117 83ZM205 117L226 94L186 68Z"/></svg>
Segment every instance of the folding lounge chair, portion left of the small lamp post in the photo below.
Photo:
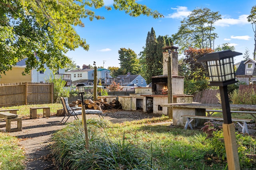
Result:
<svg viewBox="0 0 256 170"><path fill-rule="evenodd" d="M81 108L70 108L68 105L68 98L63 98L60 97L63 108L64 108L64 112L65 112L65 116L63 117L62 121L65 119L65 117L67 116L68 118L66 119L66 121L68 121L70 116L74 116L75 119L78 119L77 115L81 115L82 114L82 110ZM78 110L80 109L80 110ZM60 122L62 122L60 121ZM66 121L64 122L64 124L66 123Z"/></svg>

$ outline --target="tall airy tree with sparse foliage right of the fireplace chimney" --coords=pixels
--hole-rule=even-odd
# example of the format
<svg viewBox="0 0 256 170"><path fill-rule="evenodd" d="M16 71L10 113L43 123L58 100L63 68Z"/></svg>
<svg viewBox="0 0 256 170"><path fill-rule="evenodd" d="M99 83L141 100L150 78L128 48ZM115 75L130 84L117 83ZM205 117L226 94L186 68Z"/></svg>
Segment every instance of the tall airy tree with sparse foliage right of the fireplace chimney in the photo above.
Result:
<svg viewBox="0 0 256 170"><path fill-rule="evenodd" d="M220 19L221 15L209 8L193 10L188 18L181 21L178 32L172 35L175 43L180 46L180 52L189 47L214 49L214 40L218 36L213 32L213 25Z"/></svg>

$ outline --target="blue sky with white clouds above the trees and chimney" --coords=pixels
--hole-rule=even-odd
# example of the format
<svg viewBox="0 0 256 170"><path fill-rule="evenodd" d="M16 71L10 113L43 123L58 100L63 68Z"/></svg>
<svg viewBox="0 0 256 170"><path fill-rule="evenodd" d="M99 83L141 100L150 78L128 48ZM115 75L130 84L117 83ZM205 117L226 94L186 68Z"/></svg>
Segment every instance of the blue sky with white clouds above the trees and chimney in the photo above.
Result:
<svg viewBox="0 0 256 170"><path fill-rule="evenodd" d="M108 6L112 0L104 0ZM246 47L253 59L254 32L252 24L247 22L252 6L256 5L254 0L138 0L152 10L158 10L164 18L154 19L151 16L130 17L125 12L105 8L94 10L96 15L104 16L105 20L83 19L85 27L76 27L80 37L86 39L90 45L89 51L78 48L69 51L66 55L75 61L76 65L83 64L96 66L118 66L120 67L118 50L130 48L138 55L143 51L146 44L148 31L153 27L158 35L169 35L176 33L180 21L188 16L190 11L196 8L209 8L213 12L219 12L222 20L215 23L215 47L223 43L230 43L236 48L235 51L243 53ZM174 45L178 47L178 45ZM235 63L243 60L243 55L235 57ZM181 57L181 55L179 55Z"/></svg>

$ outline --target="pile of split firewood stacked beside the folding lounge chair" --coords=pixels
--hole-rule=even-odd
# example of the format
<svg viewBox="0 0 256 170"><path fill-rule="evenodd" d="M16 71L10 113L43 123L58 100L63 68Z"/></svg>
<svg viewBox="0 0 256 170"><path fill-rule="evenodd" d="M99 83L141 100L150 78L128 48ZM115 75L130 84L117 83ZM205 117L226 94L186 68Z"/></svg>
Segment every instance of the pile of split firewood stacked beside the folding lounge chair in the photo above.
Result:
<svg viewBox="0 0 256 170"><path fill-rule="evenodd" d="M108 98L99 99L93 101L91 99L85 99L84 104L86 109L94 109L94 110L109 110L109 109L122 109L122 104L118 100L112 100L108 102ZM82 100L77 99L69 104L70 107L74 107L78 105L78 107L82 107Z"/></svg>

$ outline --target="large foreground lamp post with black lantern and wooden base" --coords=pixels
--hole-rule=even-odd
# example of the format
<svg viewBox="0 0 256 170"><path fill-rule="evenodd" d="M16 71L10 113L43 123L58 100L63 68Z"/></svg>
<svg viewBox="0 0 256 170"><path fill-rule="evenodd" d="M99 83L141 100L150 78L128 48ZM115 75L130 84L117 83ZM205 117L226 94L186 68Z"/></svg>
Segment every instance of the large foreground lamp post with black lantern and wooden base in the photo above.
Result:
<svg viewBox="0 0 256 170"><path fill-rule="evenodd" d="M220 98L224 123L223 135L228 161L228 169L240 170L234 124L232 123L228 101L228 84L236 83L233 57L242 55L231 50L204 55L198 62L206 62L210 78L209 86L220 87Z"/></svg>

